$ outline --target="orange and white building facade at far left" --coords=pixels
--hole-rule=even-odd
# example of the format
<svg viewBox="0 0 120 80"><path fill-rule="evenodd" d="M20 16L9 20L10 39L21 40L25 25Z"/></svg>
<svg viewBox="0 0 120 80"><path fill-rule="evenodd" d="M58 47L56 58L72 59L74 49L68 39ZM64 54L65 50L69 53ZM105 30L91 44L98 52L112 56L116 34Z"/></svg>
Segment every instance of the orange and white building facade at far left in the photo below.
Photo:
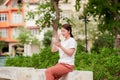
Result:
<svg viewBox="0 0 120 80"><path fill-rule="evenodd" d="M21 0L6 0L0 6L0 40L6 42L6 52L11 52L12 45L17 43L18 27L24 26L24 9L19 9Z"/></svg>

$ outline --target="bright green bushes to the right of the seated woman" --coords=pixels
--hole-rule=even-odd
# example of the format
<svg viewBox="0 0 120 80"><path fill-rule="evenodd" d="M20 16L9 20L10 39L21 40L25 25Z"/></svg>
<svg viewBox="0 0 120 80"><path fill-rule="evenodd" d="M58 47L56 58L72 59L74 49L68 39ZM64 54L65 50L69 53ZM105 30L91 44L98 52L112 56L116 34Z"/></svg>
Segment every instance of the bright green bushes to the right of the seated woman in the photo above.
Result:
<svg viewBox="0 0 120 80"><path fill-rule="evenodd" d="M120 55L114 49L108 48L100 49L99 52L101 53L77 53L75 69L93 71L94 80L119 80Z"/></svg>

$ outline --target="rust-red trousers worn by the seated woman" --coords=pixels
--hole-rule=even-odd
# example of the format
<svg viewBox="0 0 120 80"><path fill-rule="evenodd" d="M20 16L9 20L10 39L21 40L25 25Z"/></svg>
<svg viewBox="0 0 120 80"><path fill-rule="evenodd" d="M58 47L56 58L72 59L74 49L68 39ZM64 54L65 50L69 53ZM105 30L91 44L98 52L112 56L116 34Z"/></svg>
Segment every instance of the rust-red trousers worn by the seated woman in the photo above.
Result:
<svg viewBox="0 0 120 80"><path fill-rule="evenodd" d="M58 63L45 71L46 80L58 80L61 76L73 71L73 69L74 66L72 65Z"/></svg>

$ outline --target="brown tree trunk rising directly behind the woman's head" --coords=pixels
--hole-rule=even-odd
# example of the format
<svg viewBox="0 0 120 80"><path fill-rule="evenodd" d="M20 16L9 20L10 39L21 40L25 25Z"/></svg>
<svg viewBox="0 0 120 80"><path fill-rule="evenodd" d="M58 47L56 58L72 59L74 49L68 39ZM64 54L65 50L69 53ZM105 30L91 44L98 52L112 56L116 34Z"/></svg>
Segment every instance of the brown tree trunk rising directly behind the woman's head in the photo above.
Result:
<svg viewBox="0 0 120 80"><path fill-rule="evenodd" d="M52 27L53 27L53 36L58 35L58 26L59 26L59 20L60 20L60 11L59 11L59 0L51 0L51 3L54 6L55 12L56 12L56 19L52 21Z"/></svg>

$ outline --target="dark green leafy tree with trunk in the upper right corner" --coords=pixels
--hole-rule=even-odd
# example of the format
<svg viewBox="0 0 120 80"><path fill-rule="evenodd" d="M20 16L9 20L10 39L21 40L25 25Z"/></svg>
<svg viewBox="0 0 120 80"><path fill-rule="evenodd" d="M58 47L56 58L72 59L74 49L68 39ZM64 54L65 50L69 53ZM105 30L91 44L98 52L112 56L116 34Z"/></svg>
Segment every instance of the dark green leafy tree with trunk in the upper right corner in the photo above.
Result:
<svg viewBox="0 0 120 80"><path fill-rule="evenodd" d="M98 17L98 29L102 33L110 32L114 36L114 47L118 48L120 0L89 0L84 13Z"/></svg>

